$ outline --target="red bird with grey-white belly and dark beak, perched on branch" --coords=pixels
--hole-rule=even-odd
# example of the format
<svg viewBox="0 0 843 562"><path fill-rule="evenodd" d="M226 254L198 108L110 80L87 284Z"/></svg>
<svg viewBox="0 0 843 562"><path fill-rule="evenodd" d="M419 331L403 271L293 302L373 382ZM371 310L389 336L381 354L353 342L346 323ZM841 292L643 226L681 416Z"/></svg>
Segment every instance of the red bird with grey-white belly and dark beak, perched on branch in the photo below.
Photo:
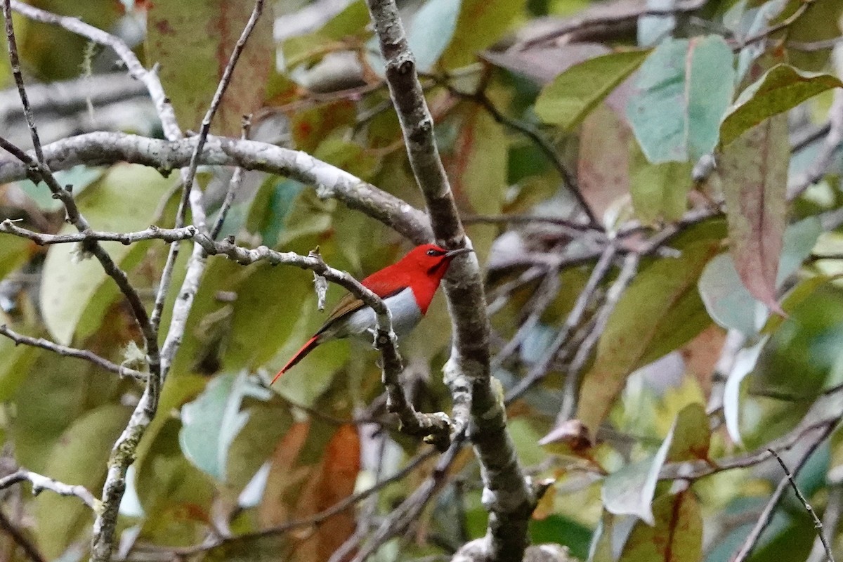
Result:
<svg viewBox="0 0 843 562"><path fill-rule="evenodd" d="M362 286L384 299L392 313L392 329L396 335L405 335L416 327L433 300L439 282L448 271L448 265L459 254L470 248L443 249L436 244L422 244L411 249L393 265L375 271L361 282ZM315 347L328 340L339 340L351 335L372 333L377 325L373 308L352 294L336 305L325 324L298 350L296 355L272 379L278 380L293 365L301 361Z"/></svg>

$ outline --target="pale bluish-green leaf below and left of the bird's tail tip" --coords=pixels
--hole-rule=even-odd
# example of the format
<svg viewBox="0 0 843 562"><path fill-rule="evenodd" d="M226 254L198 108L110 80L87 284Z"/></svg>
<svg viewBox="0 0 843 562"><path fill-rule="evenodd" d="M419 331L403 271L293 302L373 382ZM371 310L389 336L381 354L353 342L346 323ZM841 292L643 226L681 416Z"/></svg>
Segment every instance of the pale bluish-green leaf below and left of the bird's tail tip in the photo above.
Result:
<svg viewBox="0 0 843 562"><path fill-rule="evenodd" d="M245 372L224 374L181 408L181 450L197 468L222 482L226 481L228 448L249 421L249 412L240 409L246 397L267 400L271 391L250 380Z"/></svg>

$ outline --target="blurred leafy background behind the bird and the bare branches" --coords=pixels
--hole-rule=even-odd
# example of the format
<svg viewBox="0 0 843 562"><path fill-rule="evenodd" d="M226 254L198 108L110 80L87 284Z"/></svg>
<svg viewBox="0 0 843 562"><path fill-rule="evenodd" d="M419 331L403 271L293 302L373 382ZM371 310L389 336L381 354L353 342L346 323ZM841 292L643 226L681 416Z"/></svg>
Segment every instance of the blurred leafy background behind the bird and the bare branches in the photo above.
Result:
<svg viewBox="0 0 843 562"><path fill-rule="evenodd" d="M32 4L118 35L147 67L158 65L180 125L192 130L252 8ZM250 114L250 138L311 153L421 206L365 4L271 8L213 132L239 136ZM400 8L486 269L494 374L506 391L533 377L509 404L521 462L534 479L553 480L530 524L533 542L565 545L578 559L733 559L781 481L778 464L758 453L776 447L799 468L797 483L843 552L843 448L833 431L843 413L843 3L408 0ZM142 85L113 51L54 25L14 23L44 142L102 130L162 136ZM5 57L0 67L3 136L30 147ZM200 169L209 217L231 174ZM177 174L115 163L58 175L98 230L173 224ZM580 220L572 185L591 224ZM68 229L61 204L28 180L0 185L0 218ZM357 278L410 248L314 186L259 172L245 174L222 235L300 254L318 246ZM72 244L0 236L0 324L116 363L142 358L131 313L99 263ZM151 308L167 244L105 247ZM614 259L587 289L609 247ZM629 255L636 275L613 295ZM176 286L188 257L185 245ZM377 541L372 560L450 559L485 533L470 451L434 471L429 446L385 414L376 354L365 345L320 346L268 387L324 321L312 284L296 268L211 259L130 470L116 559L339 560L367 540ZM331 287L329 308L340 297ZM578 298L585 308L556 344ZM776 302L785 314L770 313ZM449 408L440 377L449 326L437 297L400 342L405 388L423 411ZM140 383L88 362L0 338L0 469L23 466L99 495L141 393ZM2 492L0 558L88 556L89 509L27 492ZM346 509L332 509L355 493ZM417 509L402 520L408 506ZM395 530L376 537L384 522ZM823 559L815 542L787 490L751 559ZM335 554L344 543L346 556Z"/></svg>

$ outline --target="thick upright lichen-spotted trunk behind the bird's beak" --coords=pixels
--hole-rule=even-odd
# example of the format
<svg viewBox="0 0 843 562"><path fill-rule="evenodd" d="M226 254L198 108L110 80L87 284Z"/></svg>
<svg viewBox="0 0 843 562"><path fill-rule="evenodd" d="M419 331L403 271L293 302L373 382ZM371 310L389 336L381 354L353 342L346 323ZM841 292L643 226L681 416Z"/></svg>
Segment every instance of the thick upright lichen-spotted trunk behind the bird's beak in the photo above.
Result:
<svg viewBox="0 0 843 562"><path fill-rule="evenodd" d="M384 56L389 93L413 173L427 203L433 234L448 248L470 245L439 157L432 116L398 8L394 0L367 0L367 4ZM445 293L454 322L454 345L444 369L445 381L454 399L458 430L470 413L469 435L481 465L483 505L489 511L487 554L493 560L520 560L528 542L527 521L535 497L507 431L502 389L490 374L489 318L476 257L452 265Z"/></svg>

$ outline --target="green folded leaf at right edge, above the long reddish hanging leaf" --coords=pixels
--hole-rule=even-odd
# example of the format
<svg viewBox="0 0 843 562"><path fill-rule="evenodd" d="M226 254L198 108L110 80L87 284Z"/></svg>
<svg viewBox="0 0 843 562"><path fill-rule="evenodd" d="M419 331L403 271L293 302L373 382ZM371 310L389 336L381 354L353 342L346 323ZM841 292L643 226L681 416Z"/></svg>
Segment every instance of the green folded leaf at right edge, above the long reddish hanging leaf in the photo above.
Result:
<svg viewBox="0 0 843 562"><path fill-rule="evenodd" d="M720 142L726 147L773 115L792 110L828 89L841 87L843 83L830 74L803 72L787 64L776 65L738 96L720 126Z"/></svg>

